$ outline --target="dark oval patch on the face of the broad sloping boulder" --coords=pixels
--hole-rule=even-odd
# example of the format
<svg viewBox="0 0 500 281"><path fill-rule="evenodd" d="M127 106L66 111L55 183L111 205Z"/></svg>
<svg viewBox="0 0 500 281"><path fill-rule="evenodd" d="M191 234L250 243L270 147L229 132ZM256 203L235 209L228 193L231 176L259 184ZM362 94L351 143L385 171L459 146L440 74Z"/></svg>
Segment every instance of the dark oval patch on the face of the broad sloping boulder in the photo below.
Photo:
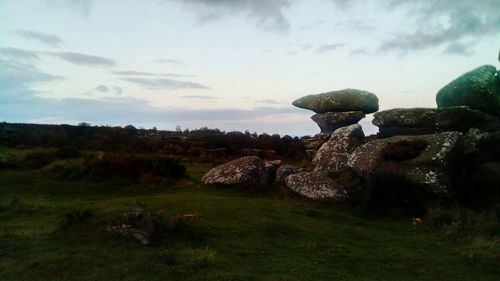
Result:
<svg viewBox="0 0 500 281"><path fill-rule="evenodd" d="M425 140L402 140L391 143L384 148L382 155L384 155L385 160L402 162L419 156L426 147L427 142Z"/></svg>

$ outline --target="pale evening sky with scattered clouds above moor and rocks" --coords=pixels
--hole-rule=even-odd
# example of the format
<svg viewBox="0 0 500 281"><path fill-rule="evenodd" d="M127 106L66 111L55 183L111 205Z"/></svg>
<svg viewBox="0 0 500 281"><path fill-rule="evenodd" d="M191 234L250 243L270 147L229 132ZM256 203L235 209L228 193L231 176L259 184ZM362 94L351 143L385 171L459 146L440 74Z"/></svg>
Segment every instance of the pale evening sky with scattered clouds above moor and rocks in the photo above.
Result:
<svg viewBox="0 0 500 281"><path fill-rule="evenodd" d="M436 107L499 47L498 0L0 0L0 122L314 135L293 100Z"/></svg>

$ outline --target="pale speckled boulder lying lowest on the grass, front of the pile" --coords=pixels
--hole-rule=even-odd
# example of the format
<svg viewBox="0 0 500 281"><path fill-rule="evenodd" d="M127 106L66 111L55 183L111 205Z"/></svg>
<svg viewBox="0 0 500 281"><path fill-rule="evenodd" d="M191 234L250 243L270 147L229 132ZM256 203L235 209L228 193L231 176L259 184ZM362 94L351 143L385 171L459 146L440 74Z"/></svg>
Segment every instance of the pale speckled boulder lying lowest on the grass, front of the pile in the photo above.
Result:
<svg viewBox="0 0 500 281"><path fill-rule="evenodd" d="M297 194L313 200L342 201L347 199L347 191L340 183L326 173L302 172L290 175L286 186Z"/></svg>

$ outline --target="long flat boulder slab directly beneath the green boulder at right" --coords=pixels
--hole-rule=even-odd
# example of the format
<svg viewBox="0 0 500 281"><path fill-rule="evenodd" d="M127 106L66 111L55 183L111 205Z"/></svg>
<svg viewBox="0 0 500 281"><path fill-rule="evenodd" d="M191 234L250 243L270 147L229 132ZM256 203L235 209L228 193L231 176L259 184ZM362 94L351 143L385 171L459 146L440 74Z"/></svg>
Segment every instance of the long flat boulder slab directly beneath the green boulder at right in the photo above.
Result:
<svg viewBox="0 0 500 281"><path fill-rule="evenodd" d="M379 127L379 136L425 135L460 131L470 128L492 131L500 128L500 119L467 106L445 108L396 108L379 111L372 123Z"/></svg>

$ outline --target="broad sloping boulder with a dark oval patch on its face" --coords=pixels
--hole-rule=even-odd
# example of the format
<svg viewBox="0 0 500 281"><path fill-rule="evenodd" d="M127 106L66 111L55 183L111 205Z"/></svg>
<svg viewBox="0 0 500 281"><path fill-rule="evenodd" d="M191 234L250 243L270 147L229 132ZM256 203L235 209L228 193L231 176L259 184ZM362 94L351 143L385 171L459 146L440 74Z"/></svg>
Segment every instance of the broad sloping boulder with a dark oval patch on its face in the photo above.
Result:
<svg viewBox="0 0 500 281"><path fill-rule="evenodd" d="M368 177L398 173L427 187L432 195L450 195L463 157L462 133L395 136L367 142L349 156L348 165Z"/></svg>

